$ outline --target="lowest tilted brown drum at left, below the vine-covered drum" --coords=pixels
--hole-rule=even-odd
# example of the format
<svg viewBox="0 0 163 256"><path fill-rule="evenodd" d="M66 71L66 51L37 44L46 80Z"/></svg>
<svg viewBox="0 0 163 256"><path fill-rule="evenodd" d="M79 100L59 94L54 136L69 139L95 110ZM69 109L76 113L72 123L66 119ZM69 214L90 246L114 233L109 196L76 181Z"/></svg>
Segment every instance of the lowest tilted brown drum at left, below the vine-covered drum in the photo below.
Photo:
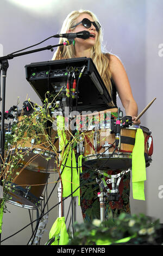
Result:
<svg viewBox="0 0 163 256"><path fill-rule="evenodd" d="M19 175L16 175L19 172ZM13 175L11 190L8 192L8 203L26 209L37 209L43 200L42 192L47 184L47 173L33 172L32 170L16 169Z"/></svg>

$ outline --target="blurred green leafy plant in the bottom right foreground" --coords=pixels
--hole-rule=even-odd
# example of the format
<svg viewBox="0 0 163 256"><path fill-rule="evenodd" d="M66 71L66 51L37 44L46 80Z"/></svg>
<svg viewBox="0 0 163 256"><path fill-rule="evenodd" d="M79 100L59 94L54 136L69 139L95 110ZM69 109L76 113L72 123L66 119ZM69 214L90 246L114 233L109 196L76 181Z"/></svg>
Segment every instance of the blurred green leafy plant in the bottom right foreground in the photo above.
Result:
<svg viewBox="0 0 163 256"><path fill-rule="evenodd" d="M76 223L68 245L156 245L159 220L144 214L120 214L114 221Z"/></svg>

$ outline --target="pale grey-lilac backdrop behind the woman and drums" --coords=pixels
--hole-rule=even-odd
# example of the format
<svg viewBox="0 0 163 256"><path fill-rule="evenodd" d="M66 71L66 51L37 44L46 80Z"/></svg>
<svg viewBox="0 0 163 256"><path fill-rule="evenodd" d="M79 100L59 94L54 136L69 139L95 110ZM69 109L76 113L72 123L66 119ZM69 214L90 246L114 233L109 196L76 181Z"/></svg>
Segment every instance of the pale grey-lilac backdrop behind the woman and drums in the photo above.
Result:
<svg viewBox="0 0 163 256"><path fill-rule="evenodd" d="M18 4L20 2L21 4ZM27 2L27 5L23 5ZM37 2L37 4L35 4ZM38 3L39 2L39 3ZM45 4L46 3L46 4ZM60 31L66 15L74 9L89 9L95 13L104 29L104 46L108 51L119 56L127 70L134 98L139 106L139 113L153 100L156 101L142 116L141 124L152 130L154 141L153 162L147 168L145 182L146 200L133 200L131 213L143 212L148 216L160 218L163 222L163 174L161 168L161 126L162 126L162 9L161 0L86 0L73 1L12 1L0 2L0 56L36 44ZM58 39L51 39L40 47L54 45ZM38 46L39 47L39 46ZM37 47L37 48L38 48ZM53 53L43 51L9 60L7 73L5 109L9 109L20 97L22 102L30 100L40 103L39 97L26 81L24 66L32 62L50 60ZM120 100L119 106L122 108ZM50 182L56 180L51 175ZM49 192L53 184L48 185ZM57 190L49 202L49 209L57 203ZM65 204L67 211L68 202ZM10 211L4 214L2 240L16 233L30 223L26 209L8 204ZM79 222L82 222L80 208ZM34 215L36 213L34 212ZM66 213L65 213L66 215ZM57 208L49 213L48 224L41 244L48 240L48 233L58 216ZM2 242L2 245L26 245L32 229L20 233Z"/></svg>

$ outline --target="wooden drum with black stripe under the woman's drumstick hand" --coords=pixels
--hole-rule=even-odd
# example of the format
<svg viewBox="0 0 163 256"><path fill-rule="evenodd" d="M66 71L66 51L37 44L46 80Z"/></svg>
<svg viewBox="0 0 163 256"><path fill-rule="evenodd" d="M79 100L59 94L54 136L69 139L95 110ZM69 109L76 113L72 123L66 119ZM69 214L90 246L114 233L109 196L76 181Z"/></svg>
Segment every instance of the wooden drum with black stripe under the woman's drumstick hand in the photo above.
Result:
<svg viewBox="0 0 163 256"><path fill-rule="evenodd" d="M151 154L149 155L151 131L147 127L137 125L122 128L120 148L114 152L115 133L111 133L114 121L108 121L106 126L104 121L98 122L96 126L93 124L90 130L80 130L78 153L83 154L83 166L95 167L99 170L128 170L132 166L136 130L140 128L145 136L145 160L148 167L152 161Z"/></svg>

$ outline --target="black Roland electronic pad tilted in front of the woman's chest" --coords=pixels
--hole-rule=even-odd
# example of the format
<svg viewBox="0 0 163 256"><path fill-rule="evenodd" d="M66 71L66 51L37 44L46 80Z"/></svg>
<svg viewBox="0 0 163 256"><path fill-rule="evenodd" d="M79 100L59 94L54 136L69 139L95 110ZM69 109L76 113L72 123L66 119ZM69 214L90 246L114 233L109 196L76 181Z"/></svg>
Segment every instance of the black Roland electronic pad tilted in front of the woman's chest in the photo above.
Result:
<svg viewBox="0 0 163 256"><path fill-rule="evenodd" d="M47 91L57 95L61 108L100 111L109 108L111 97L91 58L61 59L25 66L26 78L41 101ZM76 80L76 86L73 82ZM74 89L74 90L73 90Z"/></svg>

